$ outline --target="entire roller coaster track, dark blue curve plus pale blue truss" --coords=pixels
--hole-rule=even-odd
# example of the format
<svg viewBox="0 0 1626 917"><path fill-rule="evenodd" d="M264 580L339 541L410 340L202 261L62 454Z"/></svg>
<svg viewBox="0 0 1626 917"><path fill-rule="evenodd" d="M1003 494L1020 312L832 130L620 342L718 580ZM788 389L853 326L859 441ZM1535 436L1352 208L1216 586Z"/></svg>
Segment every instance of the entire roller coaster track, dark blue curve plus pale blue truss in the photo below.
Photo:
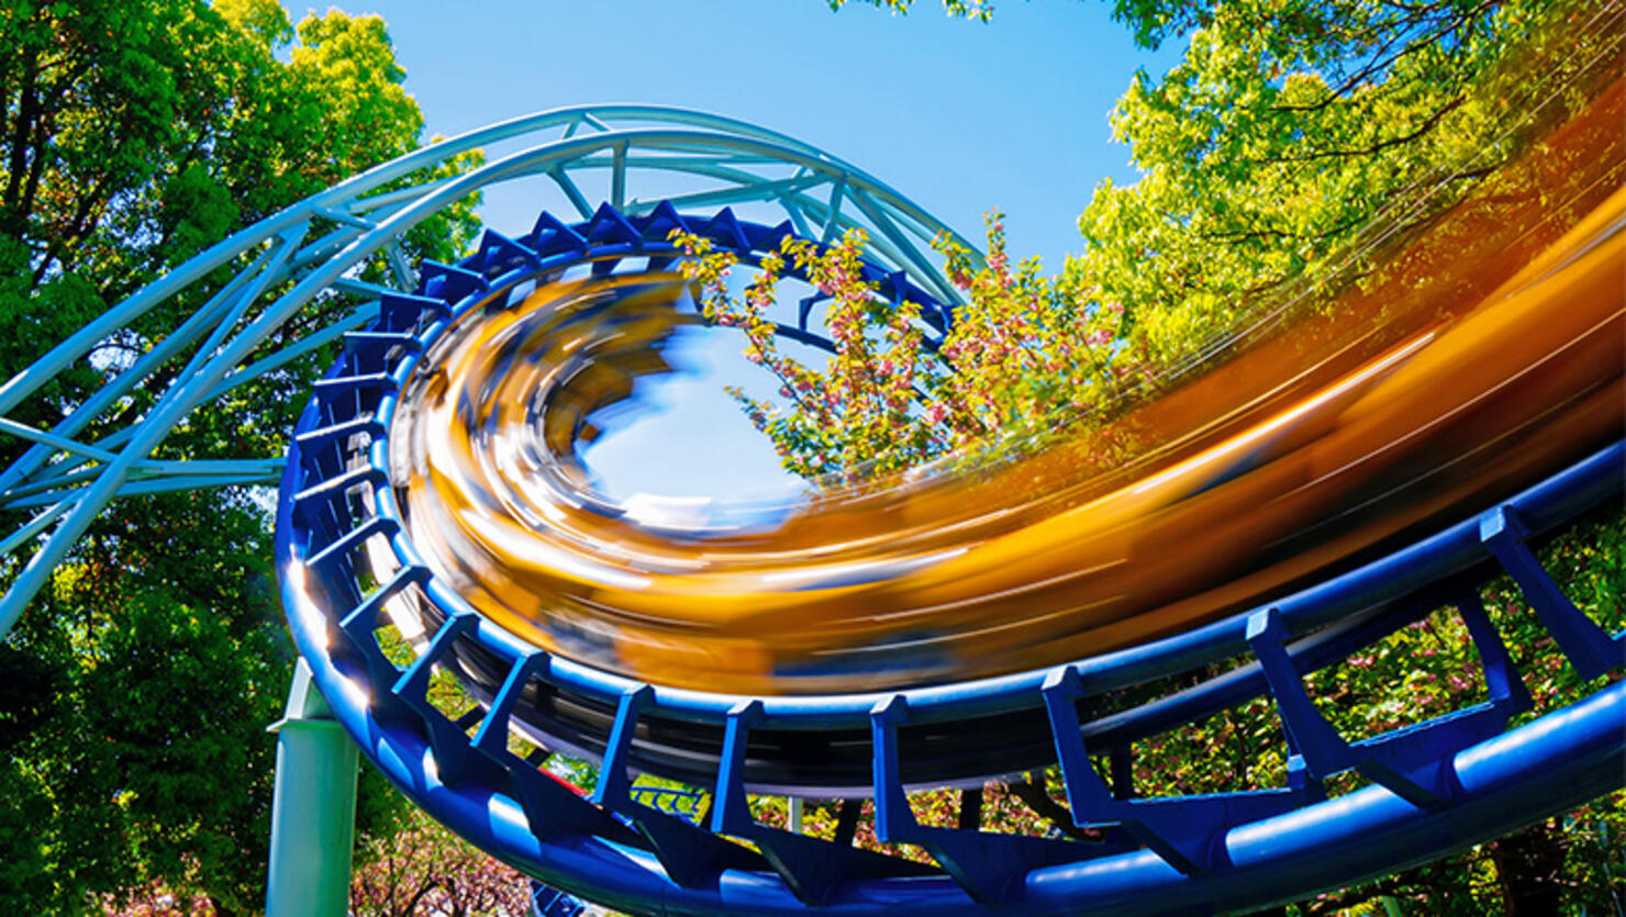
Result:
<svg viewBox="0 0 1626 917"><path fill-rule="evenodd" d="M1610 93L1618 104L1618 81L1602 96ZM538 137L467 174L408 180L462 151ZM1587 257L1618 268L1619 193L1606 193L1619 184L1618 141L1608 150L1606 184L1585 208L1592 228L1554 272ZM704 189L641 202L629 197L641 171L683 174ZM488 231L476 252L450 265L413 270L400 257L400 237L428 216L483 187L537 176L577 213L545 213L515 237ZM608 185L597 206L584 176ZM759 202L780 208L785 223L730 210ZM958 294L922 255L943 226L813 146L698 112L545 112L403 156L267 218L0 387L0 410L11 411L98 341L203 289L218 268L236 272L60 424L0 421L29 442L0 473L0 506L37 511L0 553L39 543L0 602L0 632L109 501L276 483L276 564L289 626L363 753L493 855L634 914L1246 909L1439 857L1626 780L1626 684L1618 678L1626 641L1577 610L1535 551L1550 533L1618 501L1626 463L1618 416L1572 437L1569 454L1546 455L1522 478L1476 485L1314 576L1265 589L1257 603L1098 654L928 684L815 693L668 684L659 671L590 665L519 636L426 561L402 506L410 488L392 467L390 434L402 405L411 406L413 372L460 322L525 309L538 289L582 265L605 280L659 273L681 259L673 229L756 262L787 234L828 242L854 226L872 239L868 280L946 330ZM361 280L369 263L393 280ZM340 302L354 307L335 309ZM276 338L317 306L324 317L315 330ZM1600 309L1618 324L1618 301ZM780 332L818 338L805 314ZM335 350L286 462L151 458L195 406ZM1600 384L1605 395L1619 387L1618 358L1605 366L1605 376L1613 372ZM122 395L180 361L184 369L138 421L96 426ZM99 439L75 439L86 429ZM1501 574L1517 582L1569 665L1600 684L1511 730L1532 701L1480 598L1481 585ZM1380 735L1340 735L1304 678L1439 608L1454 608L1470 632L1488 699ZM421 629L410 658L379 641L382 629L403 623ZM1224 670L1179 681L1216 665ZM431 678L442 670L457 673L478 702L450 715L431 702ZM1135 704L1101 712L1128 691L1138 691ZM1268 699L1283 725L1285 785L1137 795L1137 741L1254 699ZM967 754L967 746L993 751ZM597 761L593 789L584 793L556 779L546 769L550 751ZM1059 767L1065 797L1065 806L1052 803L1062 813L1055 831L980 828L974 787L1049 764ZM637 784L641 772L676 779L698 795ZM1340 774L1358 776L1359 789L1328 793L1327 780ZM966 789L956 826L917 818L909 793L922 787ZM818 837L764 824L751 806L759 792L847 800L841 828ZM676 797L704 798L704 808ZM859 798L873 800L880 841L914 845L930 863L854 845Z"/></svg>

